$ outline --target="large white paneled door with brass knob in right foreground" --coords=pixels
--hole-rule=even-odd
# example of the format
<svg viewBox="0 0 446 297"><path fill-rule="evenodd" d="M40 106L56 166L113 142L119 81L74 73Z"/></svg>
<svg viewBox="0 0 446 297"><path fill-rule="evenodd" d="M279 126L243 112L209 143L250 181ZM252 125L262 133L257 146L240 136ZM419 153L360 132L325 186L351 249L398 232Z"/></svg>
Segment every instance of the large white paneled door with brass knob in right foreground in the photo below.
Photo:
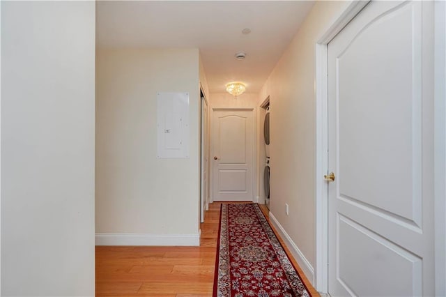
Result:
<svg viewBox="0 0 446 297"><path fill-rule="evenodd" d="M371 1L328 44L331 296L433 296L433 2Z"/></svg>

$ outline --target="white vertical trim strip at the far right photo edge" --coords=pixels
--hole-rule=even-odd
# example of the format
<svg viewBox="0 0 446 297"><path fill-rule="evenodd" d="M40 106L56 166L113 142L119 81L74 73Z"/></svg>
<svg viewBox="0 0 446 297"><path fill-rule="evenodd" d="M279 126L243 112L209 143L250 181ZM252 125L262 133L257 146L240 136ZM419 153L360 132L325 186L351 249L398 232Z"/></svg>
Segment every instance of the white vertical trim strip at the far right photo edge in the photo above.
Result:
<svg viewBox="0 0 446 297"><path fill-rule="evenodd" d="M446 296L446 4L434 3L435 295Z"/></svg>

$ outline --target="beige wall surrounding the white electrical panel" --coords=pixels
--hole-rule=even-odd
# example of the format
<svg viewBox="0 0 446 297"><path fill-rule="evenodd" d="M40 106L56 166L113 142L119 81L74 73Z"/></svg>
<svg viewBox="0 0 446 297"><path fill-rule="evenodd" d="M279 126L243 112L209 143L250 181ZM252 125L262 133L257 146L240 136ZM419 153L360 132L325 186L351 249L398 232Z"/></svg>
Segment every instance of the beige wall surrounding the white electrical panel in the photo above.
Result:
<svg viewBox="0 0 446 297"><path fill-rule="evenodd" d="M96 233L198 238L198 50L102 49L96 68ZM157 159L159 91L189 93L190 158Z"/></svg>

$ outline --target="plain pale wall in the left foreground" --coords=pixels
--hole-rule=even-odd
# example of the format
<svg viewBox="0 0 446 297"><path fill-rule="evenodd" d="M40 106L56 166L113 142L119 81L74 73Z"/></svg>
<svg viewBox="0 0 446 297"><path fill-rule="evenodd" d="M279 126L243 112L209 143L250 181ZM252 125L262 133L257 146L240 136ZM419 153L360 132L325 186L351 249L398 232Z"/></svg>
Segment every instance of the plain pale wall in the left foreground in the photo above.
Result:
<svg viewBox="0 0 446 297"><path fill-rule="evenodd" d="M95 3L1 2L1 296L94 296Z"/></svg>

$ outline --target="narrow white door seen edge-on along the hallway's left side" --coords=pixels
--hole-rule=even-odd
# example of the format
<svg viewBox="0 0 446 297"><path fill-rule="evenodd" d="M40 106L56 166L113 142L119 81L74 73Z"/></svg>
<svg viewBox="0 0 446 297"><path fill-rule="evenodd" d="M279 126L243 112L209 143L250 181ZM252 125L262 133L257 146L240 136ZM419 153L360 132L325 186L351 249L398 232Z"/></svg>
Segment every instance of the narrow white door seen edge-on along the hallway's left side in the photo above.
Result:
<svg viewBox="0 0 446 297"><path fill-rule="evenodd" d="M208 201L208 160L209 160L209 140L208 140L208 103L201 97L201 204L200 218L204 222L204 211L209 208Z"/></svg>

